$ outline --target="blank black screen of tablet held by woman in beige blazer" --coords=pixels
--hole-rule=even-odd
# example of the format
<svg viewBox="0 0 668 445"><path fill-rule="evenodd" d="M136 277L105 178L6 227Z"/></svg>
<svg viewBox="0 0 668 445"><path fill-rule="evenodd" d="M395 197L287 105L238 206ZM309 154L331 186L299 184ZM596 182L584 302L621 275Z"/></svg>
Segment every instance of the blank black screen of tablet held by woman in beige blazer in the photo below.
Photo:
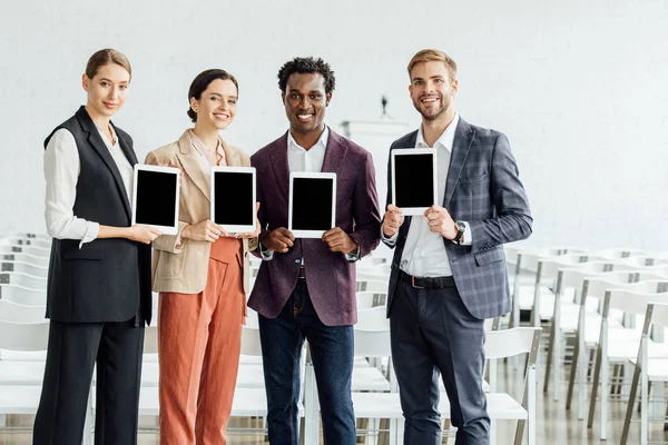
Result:
<svg viewBox="0 0 668 445"><path fill-rule="evenodd" d="M214 222L220 225L253 226L253 174L214 171L214 196L216 197Z"/></svg>

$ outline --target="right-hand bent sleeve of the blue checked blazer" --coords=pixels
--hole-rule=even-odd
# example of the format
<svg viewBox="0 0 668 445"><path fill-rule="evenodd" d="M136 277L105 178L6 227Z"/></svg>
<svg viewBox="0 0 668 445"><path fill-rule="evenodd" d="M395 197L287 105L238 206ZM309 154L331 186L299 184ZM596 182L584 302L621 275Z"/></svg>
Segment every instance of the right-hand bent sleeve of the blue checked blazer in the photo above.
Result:
<svg viewBox="0 0 668 445"><path fill-rule="evenodd" d="M473 238L472 251L487 250L531 235L533 219L529 199L508 137L499 134L492 150L490 192L495 208L493 218L468 221Z"/></svg>

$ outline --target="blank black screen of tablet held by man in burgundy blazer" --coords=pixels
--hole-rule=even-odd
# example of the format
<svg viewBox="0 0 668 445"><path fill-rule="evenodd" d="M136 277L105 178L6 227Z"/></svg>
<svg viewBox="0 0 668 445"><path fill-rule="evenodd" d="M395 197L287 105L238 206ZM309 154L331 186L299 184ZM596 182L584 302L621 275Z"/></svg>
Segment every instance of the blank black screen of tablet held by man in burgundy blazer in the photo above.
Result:
<svg viewBox="0 0 668 445"><path fill-rule="evenodd" d="M293 179L293 230L330 230L334 181L321 178Z"/></svg>

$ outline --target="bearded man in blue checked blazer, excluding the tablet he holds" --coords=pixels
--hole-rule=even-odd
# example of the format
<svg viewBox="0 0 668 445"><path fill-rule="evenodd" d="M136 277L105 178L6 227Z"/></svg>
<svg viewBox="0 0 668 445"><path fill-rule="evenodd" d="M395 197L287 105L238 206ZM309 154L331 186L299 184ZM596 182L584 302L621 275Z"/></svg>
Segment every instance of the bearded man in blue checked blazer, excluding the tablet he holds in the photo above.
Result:
<svg viewBox="0 0 668 445"><path fill-rule="evenodd" d="M531 235L529 201L508 138L456 113L456 63L442 51L422 50L409 63L409 75L422 125L390 151L436 151L442 206L404 217L390 191L383 217L382 240L394 248L387 316L404 444L441 443L439 375L458 445L488 444L483 320L510 310L502 245Z"/></svg>

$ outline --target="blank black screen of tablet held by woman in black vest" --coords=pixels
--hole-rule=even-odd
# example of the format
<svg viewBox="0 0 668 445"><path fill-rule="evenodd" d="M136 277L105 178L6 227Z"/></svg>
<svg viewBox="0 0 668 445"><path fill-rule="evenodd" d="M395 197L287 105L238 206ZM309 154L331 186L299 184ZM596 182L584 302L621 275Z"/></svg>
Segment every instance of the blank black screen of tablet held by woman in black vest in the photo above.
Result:
<svg viewBox="0 0 668 445"><path fill-rule="evenodd" d="M174 226L178 176L160 171L137 171L135 221L150 226Z"/></svg>

